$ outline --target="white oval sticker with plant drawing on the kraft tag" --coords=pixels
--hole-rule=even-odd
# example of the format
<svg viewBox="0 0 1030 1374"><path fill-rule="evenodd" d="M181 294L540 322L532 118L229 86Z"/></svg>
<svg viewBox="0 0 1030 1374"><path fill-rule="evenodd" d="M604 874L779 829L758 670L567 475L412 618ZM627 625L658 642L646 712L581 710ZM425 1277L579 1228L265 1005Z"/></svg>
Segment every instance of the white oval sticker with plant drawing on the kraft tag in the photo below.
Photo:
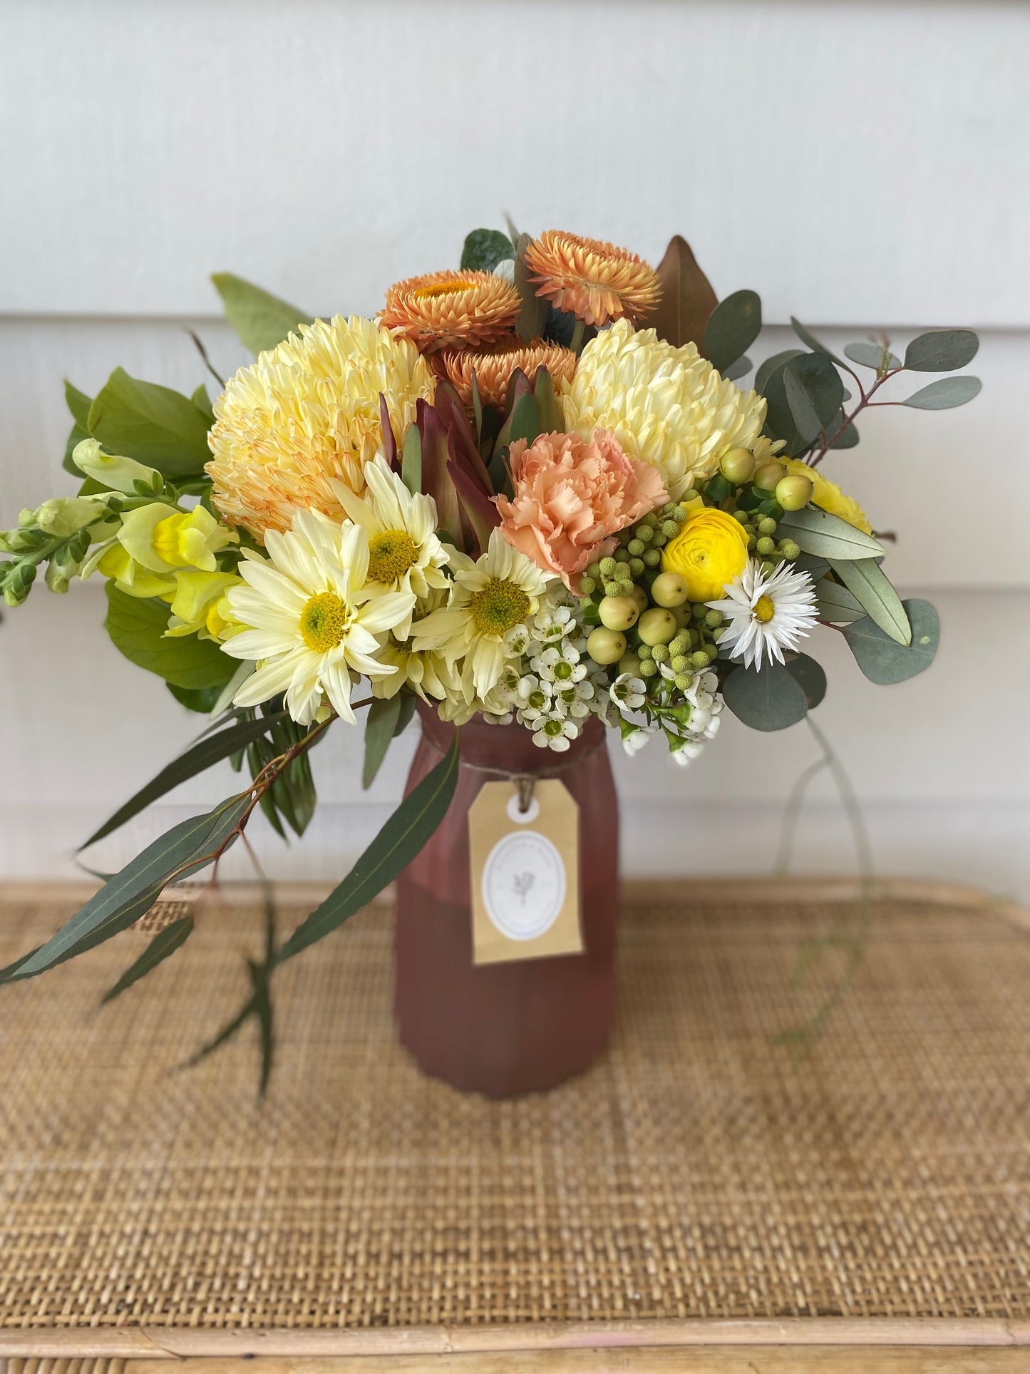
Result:
<svg viewBox="0 0 1030 1374"><path fill-rule="evenodd" d="M564 905L564 863L547 835L514 830L483 864L483 905L508 940L536 940L558 921Z"/></svg>

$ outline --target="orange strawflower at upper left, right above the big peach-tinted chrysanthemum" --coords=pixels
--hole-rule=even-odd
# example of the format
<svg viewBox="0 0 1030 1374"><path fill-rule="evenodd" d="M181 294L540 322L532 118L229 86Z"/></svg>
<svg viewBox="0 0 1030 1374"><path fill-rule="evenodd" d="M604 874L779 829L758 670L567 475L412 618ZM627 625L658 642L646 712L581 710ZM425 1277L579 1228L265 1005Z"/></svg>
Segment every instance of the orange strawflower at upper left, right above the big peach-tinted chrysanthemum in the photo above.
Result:
<svg viewBox="0 0 1030 1374"><path fill-rule="evenodd" d="M379 323L402 330L420 352L435 353L500 342L520 309L519 293L493 272L428 272L390 287Z"/></svg>

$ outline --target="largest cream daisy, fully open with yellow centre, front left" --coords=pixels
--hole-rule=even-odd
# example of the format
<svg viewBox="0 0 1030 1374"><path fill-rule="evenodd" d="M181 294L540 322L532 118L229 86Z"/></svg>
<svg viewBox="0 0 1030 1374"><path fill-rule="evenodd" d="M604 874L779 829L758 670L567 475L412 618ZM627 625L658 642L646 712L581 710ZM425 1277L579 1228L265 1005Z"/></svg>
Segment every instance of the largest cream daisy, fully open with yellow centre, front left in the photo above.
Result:
<svg viewBox="0 0 1030 1374"><path fill-rule="evenodd" d="M380 639L411 617L412 592L382 592L367 581L368 539L360 525L339 525L316 511L298 511L291 530L269 530L268 558L244 550L244 587L227 592L244 629L222 644L233 658L257 662L233 697L257 706L279 692L301 725L309 725L323 694L353 724L356 676L396 673L380 657ZM353 675L353 676L352 676Z"/></svg>

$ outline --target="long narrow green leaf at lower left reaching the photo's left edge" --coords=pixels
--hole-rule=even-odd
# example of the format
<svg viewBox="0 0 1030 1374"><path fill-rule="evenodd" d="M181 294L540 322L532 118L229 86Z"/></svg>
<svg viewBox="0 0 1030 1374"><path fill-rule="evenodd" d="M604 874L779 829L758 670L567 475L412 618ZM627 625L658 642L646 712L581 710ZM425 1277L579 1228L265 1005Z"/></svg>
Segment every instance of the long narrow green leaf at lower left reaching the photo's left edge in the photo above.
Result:
<svg viewBox="0 0 1030 1374"><path fill-rule="evenodd" d="M249 796L229 797L214 811L181 820L159 835L5 981L33 978L128 929L150 911L169 881L187 878L210 863L210 855L228 840L249 805Z"/></svg>

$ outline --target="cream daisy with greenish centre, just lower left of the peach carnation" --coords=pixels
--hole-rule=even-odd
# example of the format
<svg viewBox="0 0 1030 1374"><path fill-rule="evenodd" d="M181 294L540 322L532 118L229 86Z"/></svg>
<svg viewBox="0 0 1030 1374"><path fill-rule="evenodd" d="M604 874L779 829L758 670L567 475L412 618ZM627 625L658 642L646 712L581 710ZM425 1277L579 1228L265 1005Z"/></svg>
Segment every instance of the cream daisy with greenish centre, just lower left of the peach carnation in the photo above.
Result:
<svg viewBox="0 0 1030 1374"><path fill-rule="evenodd" d="M466 702L485 698L501 679L512 650L508 631L525 625L540 607L540 598L553 578L512 548L499 529L490 534L478 562L464 554L450 555L455 583L448 606L412 625L416 651L438 650L446 660L461 660L461 694Z"/></svg>

